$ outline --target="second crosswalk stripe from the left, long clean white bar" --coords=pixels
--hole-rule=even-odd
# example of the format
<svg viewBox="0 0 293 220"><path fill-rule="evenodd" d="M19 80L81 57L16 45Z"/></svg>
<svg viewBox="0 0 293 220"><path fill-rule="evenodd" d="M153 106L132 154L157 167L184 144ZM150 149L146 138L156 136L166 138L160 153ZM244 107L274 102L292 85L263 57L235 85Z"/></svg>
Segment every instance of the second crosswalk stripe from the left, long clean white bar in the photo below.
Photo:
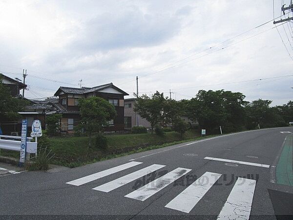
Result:
<svg viewBox="0 0 293 220"><path fill-rule="evenodd" d="M128 174L126 176L122 176L118 179L114 179L113 181L107 182L101 186L93 188L93 190L98 190L102 192L110 192L114 189L117 189L120 186L123 186L129 182L132 182L135 179L138 179L142 176L146 176L147 174L150 174L156 170L161 169L162 167L165 167L166 165L159 165L159 164L153 164L150 165L144 169L141 169L139 171L133 172L131 174Z"/></svg>

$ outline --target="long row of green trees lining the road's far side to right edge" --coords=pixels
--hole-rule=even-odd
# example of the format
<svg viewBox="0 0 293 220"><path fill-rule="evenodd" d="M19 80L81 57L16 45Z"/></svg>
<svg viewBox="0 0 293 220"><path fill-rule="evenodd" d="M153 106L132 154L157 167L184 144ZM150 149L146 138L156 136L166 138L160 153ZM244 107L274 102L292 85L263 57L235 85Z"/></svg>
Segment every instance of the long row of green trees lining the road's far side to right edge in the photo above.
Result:
<svg viewBox="0 0 293 220"><path fill-rule="evenodd" d="M209 134L288 126L293 121L293 101L271 107L272 100L245 101L241 92L199 90L190 100L175 101L156 92L152 96L137 97L134 110L151 125L173 125L183 128L182 116L198 122ZM178 129L178 128L177 128Z"/></svg>

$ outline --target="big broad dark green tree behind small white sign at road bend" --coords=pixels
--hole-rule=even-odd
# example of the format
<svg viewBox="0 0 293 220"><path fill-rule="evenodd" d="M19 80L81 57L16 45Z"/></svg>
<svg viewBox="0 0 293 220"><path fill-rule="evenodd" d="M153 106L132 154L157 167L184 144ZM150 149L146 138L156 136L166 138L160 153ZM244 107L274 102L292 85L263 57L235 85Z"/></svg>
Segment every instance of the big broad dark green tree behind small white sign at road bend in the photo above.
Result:
<svg viewBox="0 0 293 220"><path fill-rule="evenodd" d="M194 98L182 102L186 115L198 121L200 128L209 133L218 132L219 126L226 132L240 130L245 125L245 95L224 90L199 90Z"/></svg>

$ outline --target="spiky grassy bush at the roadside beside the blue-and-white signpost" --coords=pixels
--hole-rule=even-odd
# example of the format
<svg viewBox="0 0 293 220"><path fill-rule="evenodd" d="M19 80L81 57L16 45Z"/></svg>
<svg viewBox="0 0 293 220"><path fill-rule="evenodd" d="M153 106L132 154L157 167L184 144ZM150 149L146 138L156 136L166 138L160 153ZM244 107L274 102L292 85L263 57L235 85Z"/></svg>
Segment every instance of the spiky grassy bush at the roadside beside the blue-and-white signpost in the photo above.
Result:
<svg viewBox="0 0 293 220"><path fill-rule="evenodd" d="M41 148L38 151L38 156L32 158L35 160L26 164L26 169L28 171L46 171L49 169L50 160L53 156L54 154L51 154L51 151L48 152L47 148Z"/></svg>

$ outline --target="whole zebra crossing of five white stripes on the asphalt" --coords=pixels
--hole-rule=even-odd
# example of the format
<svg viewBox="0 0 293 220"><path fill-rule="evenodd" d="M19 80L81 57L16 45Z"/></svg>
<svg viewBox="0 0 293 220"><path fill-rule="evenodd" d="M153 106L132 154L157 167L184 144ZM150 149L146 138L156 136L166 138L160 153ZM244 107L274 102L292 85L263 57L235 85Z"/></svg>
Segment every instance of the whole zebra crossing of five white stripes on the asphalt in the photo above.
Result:
<svg viewBox="0 0 293 220"><path fill-rule="evenodd" d="M88 182L109 176L114 173L118 173L140 164L142 164L142 162L131 161L129 163L122 164L89 176L84 176L66 183L74 186L81 186ZM93 190L108 193L136 179L158 171L163 167L166 167L166 165L152 164L138 171L99 185L93 188ZM125 195L125 197L145 201L147 198L152 197L167 187L169 184L188 174L190 171L191 169L180 167L176 168L167 174L146 183L144 186ZM192 209L194 209L196 204L205 196L205 194L221 176L222 174L206 172L204 175L196 179L191 185L189 185L184 191L179 193L175 198L168 202L165 207L184 213L189 213ZM227 201L218 215L218 219L222 220L227 219L228 217L233 219L249 219L255 185L256 180L238 177L230 192L230 195L227 198Z"/></svg>

